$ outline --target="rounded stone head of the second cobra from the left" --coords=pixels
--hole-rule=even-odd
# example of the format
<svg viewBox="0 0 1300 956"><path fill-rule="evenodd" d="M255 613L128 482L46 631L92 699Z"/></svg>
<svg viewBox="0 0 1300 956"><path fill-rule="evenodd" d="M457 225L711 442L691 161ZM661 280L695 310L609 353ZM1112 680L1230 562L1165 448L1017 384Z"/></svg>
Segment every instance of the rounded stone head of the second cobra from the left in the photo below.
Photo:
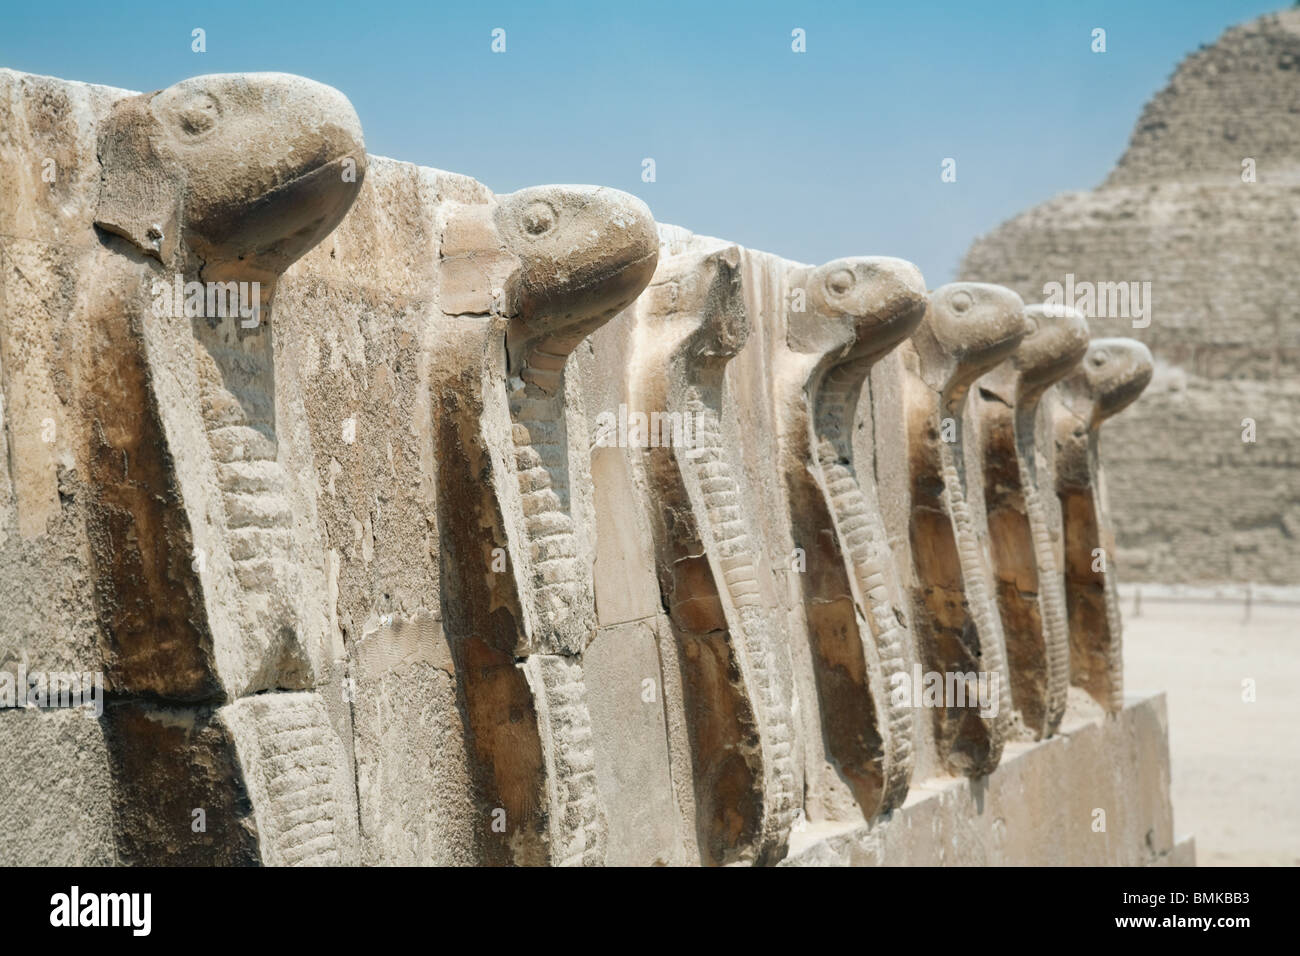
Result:
<svg viewBox="0 0 1300 956"><path fill-rule="evenodd" d="M523 189L498 199L493 222L517 260L502 289L512 365L541 339L572 351L632 304L659 261L650 209L615 189Z"/></svg>

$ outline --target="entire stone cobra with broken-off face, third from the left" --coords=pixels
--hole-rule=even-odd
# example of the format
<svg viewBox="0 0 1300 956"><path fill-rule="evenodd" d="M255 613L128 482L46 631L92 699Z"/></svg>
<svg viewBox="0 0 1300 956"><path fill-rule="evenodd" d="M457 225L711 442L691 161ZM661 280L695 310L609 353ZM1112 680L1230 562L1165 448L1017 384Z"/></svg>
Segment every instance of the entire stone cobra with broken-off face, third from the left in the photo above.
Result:
<svg viewBox="0 0 1300 956"><path fill-rule="evenodd" d="M662 260L638 304L633 407L654 497L659 588L679 644L706 861L777 858L798 804L786 645L723 433L727 363L749 338L740 250ZM640 442L637 442L640 444Z"/></svg>

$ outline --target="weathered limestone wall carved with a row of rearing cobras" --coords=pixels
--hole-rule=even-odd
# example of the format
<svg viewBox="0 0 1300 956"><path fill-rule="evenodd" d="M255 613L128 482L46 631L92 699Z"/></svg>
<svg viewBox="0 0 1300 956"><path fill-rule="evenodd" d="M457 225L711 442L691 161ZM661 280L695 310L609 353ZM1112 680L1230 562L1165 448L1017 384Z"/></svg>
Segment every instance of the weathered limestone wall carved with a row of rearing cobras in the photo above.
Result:
<svg viewBox="0 0 1300 956"><path fill-rule="evenodd" d="M656 232L615 190L495 195L365 156L346 100L277 74L148 99L0 70L0 671L104 680L98 719L0 709L0 860L806 861L1060 743L1008 689L994 453L954 397L1020 355L1010 291ZM207 161L228 125L251 172ZM213 274L265 282L259 320L155 310ZM1117 410L1071 394L1044 463ZM693 440L629 437L651 411ZM1075 529L1049 533L1020 558L1063 581ZM1118 622L1086 623L1117 665ZM1011 636L1065 646L1040 624ZM894 701L922 661L994 675L1000 715ZM1150 723L1086 678L1080 786L1132 762L1102 710ZM1167 774L1126 779L1079 861L1171 852Z"/></svg>

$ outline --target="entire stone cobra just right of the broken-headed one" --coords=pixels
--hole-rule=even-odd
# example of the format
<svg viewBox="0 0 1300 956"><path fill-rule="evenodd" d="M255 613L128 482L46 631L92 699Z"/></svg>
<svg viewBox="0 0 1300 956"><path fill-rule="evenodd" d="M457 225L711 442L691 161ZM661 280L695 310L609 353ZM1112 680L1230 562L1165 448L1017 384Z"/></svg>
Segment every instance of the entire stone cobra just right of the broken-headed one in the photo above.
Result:
<svg viewBox="0 0 1300 956"><path fill-rule="evenodd" d="M871 818L900 805L911 777L913 706L897 693L915 659L875 485L853 432L871 367L915 332L920 272L897 259L838 259L790 274L774 363L794 544L827 750Z"/></svg>

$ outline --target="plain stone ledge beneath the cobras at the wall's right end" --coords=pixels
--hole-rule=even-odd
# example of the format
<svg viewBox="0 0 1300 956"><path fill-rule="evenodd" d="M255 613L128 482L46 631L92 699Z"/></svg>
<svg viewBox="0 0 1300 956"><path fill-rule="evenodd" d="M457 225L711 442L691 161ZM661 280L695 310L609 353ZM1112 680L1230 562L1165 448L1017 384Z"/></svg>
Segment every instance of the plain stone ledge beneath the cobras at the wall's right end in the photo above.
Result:
<svg viewBox="0 0 1300 956"><path fill-rule="evenodd" d="M1096 810L1105 812L1105 831ZM810 823L783 866L1192 866L1174 839L1165 696L1009 744L989 777L919 783L872 825Z"/></svg>

